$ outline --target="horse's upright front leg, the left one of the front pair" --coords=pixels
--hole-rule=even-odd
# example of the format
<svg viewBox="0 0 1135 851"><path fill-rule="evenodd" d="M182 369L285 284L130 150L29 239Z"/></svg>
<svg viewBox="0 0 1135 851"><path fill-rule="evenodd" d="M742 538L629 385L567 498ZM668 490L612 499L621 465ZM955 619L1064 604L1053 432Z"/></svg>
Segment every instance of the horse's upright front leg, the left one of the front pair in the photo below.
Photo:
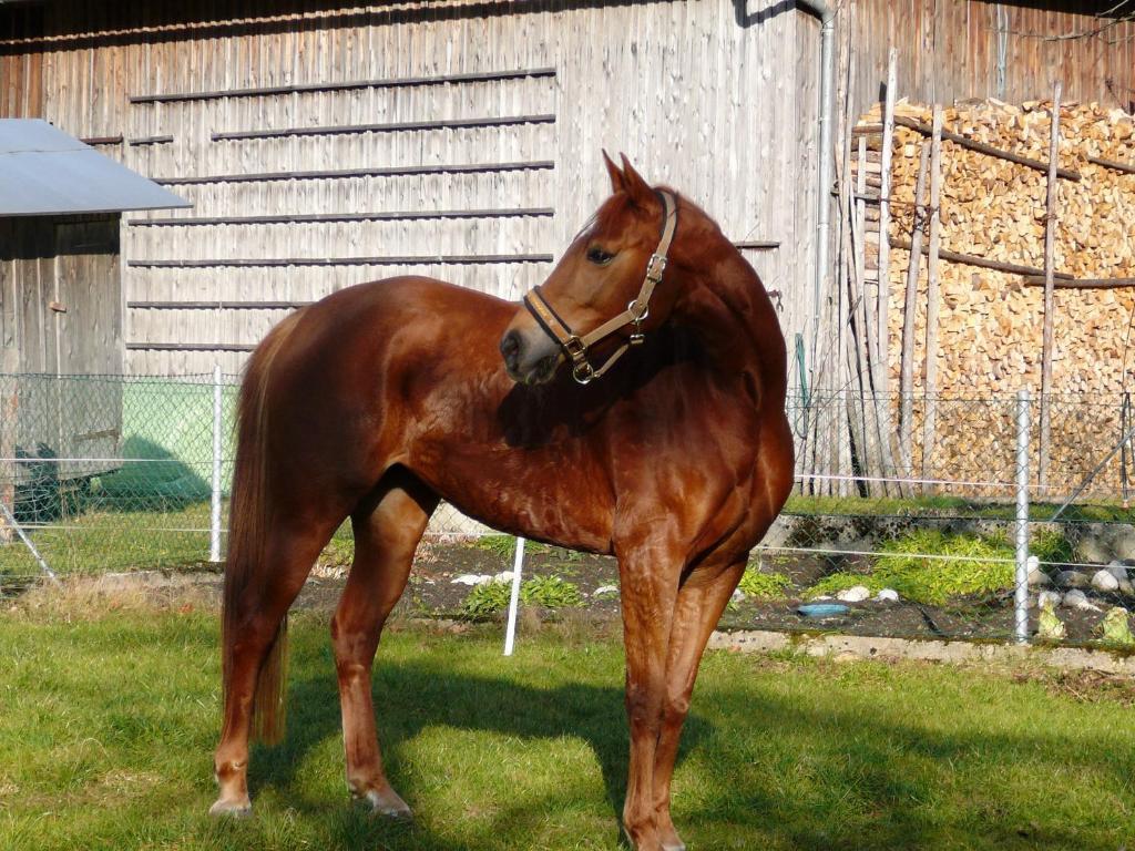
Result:
<svg viewBox="0 0 1135 851"><path fill-rule="evenodd" d="M630 773L623 829L636 851L662 851L654 806L654 768L666 693L666 656L684 554L664 542L620 553Z"/></svg>

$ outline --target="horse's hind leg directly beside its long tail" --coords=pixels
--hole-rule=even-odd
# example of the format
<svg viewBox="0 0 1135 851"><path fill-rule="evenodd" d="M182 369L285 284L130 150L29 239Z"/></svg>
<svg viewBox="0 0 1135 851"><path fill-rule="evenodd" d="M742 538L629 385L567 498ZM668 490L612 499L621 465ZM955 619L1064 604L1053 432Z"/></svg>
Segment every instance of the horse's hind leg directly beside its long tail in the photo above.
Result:
<svg viewBox="0 0 1135 851"><path fill-rule="evenodd" d="M233 626L226 630L225 710L215 768L220 795L209 810L213 815L243 816L249 800L249 738L258 677L272 649L284 616L311 572L319 551L337 524L318 528L280 523L264 547L264 563L249 576L243 592L226 601Z"/></svg>

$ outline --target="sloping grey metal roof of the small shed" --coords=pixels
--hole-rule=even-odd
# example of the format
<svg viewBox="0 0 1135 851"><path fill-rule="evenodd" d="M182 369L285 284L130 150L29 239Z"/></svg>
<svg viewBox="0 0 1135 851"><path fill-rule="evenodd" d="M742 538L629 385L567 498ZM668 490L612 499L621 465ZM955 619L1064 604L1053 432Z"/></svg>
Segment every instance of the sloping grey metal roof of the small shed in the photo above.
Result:
<svg viewBox="0 0 1135 851"><path fill-rule="evenodd" d="M0 119L0 216L192 204L39 118Z"/></svg>

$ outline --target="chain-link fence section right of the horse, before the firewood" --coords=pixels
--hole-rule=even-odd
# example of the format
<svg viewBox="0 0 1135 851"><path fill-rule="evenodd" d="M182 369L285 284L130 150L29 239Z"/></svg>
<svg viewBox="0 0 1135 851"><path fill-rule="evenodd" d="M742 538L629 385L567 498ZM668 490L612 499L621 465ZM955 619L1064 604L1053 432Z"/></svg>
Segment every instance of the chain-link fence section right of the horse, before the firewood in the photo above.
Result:
<svg viewBox="0 0 1135 851"><path fill-rule="evenodd" d="M1022 410L1015 396L797 391L797 488L762 571L801 600L848 604L821 629L1008 639L1019 616L1042 640L1126 641L1129 410L1126 395Z"/></svg>

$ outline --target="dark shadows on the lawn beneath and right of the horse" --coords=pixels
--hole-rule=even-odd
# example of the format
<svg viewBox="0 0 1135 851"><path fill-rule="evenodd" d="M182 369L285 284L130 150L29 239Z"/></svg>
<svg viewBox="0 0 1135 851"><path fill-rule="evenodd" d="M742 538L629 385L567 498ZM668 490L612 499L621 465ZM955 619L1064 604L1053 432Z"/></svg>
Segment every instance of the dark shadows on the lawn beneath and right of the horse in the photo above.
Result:
<svg viewBox="0 0 1135 851"><path fill-rule="evenodd" d="M611 843L603 846L615 846L627 774L621 689L583 684L540 689L415 662L380 664L375 693L388 774L412 804L418 794L404 749L428 727L523 739L578 736L600 765L612 812ZM289 710L286 742L259 749L253 757L253 794L272 786L288 806L327 818L326 802L304 798L297 769L309 751L339 733L334 677L294 682ZM747 732L732 739L737 725L763 744L749 749L742 742ZM975 726L942 732L933 725L902 723L893 711L872 711L861 698L844 705L836 694L823 705L801 706L759 681L737 688L715 683L695 700L680 762L695 756L704 804L678 818L679 829L690 828L683 831L688 839L704 837L695 843L698 848L1083 848L1084 824L1060 815L1059 808L1057 815L1032 818L1029 807L1036 800L1020 799L1012 785L1019 782L1015 775L1001 782L991 775L1001 776L1003 765L1035 770L1040 777L1085 769L1104 774L1109 787L1121 790L1135 772L1135 759L1109 750L1105 741L1081 741L1070 749L1057 735L1027 730L990 732ZM959 764L968 772L965 776L973 777L973 791L956 785L952 773ZM801 783L804 767L818 768L819 776ZM540 835L541 819L562 809L571 787L572 777L565 776L562 797L549 795L537 807L530 800L501 807L484 846L531 846L532 837ZM681 794L680 784L676 791ZM345 794L342 810L328 826L333 834L328 844L334 848L481 846L438 836L421 824L372 819L363 809L350 808Z"/></svg>

